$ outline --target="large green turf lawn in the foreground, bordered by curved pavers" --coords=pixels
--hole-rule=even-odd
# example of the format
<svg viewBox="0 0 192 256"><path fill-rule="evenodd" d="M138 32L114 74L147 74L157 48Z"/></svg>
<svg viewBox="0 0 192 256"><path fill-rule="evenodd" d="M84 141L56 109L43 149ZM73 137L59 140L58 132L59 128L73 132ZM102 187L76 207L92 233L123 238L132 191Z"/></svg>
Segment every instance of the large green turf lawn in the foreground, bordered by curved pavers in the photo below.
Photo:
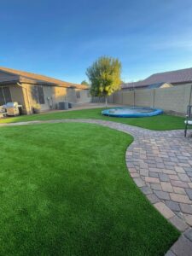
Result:
<svg viewBox="0 0 192 256"><path fill-rule="evenodd" d="M99 125L2 127L0 255L164 255L179 232L129 176L131 142Z"/></svg>

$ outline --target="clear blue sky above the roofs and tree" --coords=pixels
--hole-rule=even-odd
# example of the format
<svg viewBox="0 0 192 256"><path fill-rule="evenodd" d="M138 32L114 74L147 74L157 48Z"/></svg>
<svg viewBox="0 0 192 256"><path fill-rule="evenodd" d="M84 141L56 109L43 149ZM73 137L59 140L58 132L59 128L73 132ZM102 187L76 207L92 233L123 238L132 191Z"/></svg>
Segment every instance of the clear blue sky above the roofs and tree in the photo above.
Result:
<svg viewBox="0 0 192 256"><path fill-rule="evenodd" d="M101 55L125 81L192 67L192 1L0 1L0 66L80 83Z"/></svg>

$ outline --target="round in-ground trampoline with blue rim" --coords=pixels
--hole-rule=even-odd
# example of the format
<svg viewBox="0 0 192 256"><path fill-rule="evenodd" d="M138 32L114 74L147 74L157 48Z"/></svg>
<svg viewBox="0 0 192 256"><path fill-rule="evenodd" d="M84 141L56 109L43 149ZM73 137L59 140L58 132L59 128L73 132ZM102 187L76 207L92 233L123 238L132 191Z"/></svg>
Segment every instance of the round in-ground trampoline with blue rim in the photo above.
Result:
<svg viewBox="0 0 192 256"><path fill-rule="evenodd" d="M161 109L158 108L145 108L145 107L122 107L122 108L109 108L102 110L103 115L113 116L113 117L148 117L153 115L158 115L163 113Z"/></svg>

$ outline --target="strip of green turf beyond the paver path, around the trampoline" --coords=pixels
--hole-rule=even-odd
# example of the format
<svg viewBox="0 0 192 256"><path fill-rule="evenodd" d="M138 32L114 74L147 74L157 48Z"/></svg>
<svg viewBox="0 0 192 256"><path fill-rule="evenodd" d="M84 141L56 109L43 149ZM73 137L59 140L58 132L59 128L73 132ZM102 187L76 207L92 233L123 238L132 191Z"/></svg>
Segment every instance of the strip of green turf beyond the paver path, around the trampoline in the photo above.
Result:
<svg viewBox="0 0 192 256"><path fill-rule="evenodd" d="M104 119L127 125L136 125L151 130L175 130L184 128L184 119L172 115L158 115L148 118L113 118L102 116L102 108L74 110L68 112L24 115L16 118L1 119L0 123L49 120L49 119Z"/></svg>

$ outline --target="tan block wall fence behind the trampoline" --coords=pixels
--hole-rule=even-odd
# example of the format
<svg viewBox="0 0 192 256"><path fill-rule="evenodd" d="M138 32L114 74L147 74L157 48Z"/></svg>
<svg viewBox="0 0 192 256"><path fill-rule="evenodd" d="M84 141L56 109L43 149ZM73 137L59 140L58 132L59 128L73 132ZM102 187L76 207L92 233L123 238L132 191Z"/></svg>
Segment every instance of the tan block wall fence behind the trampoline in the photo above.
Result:
<svg viewBox="0 0 192 256"><path fill-rule="evenodd" d="M100 98L100 102L103 102L103 99ZM167 112L183 114L186 113L187 106L192 105L192 84L158 89L119 90L108 97L108 102L125 106L161 108Z"/></svg>

